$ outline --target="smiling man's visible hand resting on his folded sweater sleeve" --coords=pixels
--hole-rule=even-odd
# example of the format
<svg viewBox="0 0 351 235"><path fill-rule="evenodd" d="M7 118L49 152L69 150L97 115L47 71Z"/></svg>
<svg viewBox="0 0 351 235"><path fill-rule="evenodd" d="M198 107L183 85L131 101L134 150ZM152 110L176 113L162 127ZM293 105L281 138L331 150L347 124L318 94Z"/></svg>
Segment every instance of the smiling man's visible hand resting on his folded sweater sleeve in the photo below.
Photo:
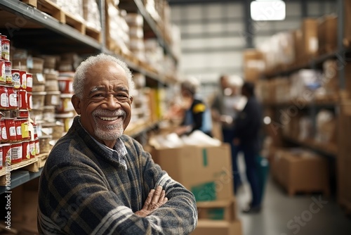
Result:
<svg viewBox="0 0 351 235"><path fill-rule="evenodd" d="M139 215L140 217L146 217L150 215L151 212L159 208L161 205L164 205L168 198L165 197L166 192L162 190L161 186L157 186L156 190L151 189L149 195L146 198L143 209L135 212L135 215Z"/></svg>

